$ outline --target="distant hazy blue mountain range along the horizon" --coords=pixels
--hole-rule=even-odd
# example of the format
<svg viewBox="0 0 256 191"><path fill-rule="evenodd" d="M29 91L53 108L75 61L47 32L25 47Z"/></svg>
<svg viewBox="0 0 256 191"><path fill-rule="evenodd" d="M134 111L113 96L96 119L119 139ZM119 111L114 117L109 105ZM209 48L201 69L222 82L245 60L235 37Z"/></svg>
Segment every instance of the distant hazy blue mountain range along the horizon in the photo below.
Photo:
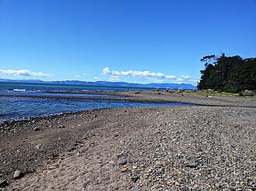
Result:
<svg viewBox="0 0 256 191"><path fill-rule="evenodd" d="M105 86L105 87L146 87L146 88L170 88L184 90L194 90L195 86L191 84L133 84L126 82L110 82L110 81L96 81L87 82L79 80L65 80L65 81L43 81L43 80L9 80L0 78L0 82L19 82L19 83L34 83L34 84L68 84L68 85L85 85L85 86Z"/></svg>

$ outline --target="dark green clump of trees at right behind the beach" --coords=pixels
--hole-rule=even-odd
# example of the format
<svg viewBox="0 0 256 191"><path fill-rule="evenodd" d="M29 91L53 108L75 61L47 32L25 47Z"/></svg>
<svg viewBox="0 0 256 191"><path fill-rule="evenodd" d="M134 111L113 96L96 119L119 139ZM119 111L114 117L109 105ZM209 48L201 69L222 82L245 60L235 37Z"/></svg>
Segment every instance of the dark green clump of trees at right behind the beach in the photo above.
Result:
<svg viewBox="0 0 256 191"><path fill-rule="evenodd" d="M217 90L239 93L256 90L256 58L242 59L240 56L204 56L201 60L205 70L200 70L199 90Z"/></svg>

